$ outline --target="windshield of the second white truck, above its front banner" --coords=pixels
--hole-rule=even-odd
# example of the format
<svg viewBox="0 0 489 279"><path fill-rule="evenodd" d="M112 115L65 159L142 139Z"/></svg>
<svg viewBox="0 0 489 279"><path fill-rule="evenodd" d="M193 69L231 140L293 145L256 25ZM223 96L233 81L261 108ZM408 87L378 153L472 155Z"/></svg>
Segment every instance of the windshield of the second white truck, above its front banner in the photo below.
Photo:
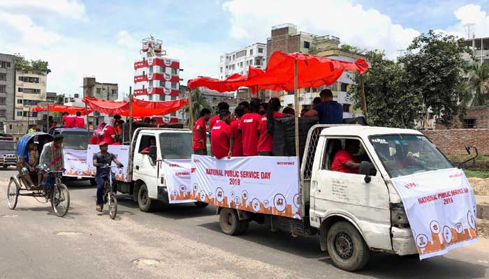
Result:
<svg viewBox="0 0 489 279"><path fill-rule="evenodd" d="M166 159L190 159L192 156L191 133L161 133L161 156Z"/></svg>

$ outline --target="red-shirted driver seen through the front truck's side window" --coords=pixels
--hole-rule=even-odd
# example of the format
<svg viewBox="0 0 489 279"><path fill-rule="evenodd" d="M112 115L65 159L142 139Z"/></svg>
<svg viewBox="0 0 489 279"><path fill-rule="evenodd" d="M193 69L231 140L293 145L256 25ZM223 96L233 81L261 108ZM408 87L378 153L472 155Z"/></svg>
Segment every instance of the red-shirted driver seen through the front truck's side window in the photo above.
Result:
<svg viewBox="0 0 489 279"><path fill-rule="evenodd" d="M360 164L357 158L353 157L353 154L360 151L360 141L358 140L346 140L344 143L344 149L338 151L331 163L331 170L333 172L345 172L347 174L358 174L358 168Z"/></svg>

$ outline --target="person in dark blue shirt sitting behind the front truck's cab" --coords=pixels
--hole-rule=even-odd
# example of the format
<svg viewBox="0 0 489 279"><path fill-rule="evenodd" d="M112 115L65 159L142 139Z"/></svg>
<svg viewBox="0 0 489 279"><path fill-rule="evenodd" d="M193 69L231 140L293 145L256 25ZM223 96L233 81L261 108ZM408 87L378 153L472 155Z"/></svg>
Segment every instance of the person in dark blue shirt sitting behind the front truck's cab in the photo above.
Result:
<svg viewBox="0 0 489 279"><path fill-rule="evenodd" d="M317 117L319 124L343 123L343 106L333 100L333 92L330 89L323 89L319 96L321 96L322 102L302 117Z"/></svg>

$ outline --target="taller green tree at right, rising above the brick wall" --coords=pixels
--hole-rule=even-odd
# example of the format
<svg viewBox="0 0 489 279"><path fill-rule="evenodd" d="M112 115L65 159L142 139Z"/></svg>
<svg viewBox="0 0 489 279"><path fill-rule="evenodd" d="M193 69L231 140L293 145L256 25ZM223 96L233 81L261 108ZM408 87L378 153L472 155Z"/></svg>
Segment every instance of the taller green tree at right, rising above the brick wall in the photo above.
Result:
<svg viewBox="0 0 489 279"><path fill-rule="evenodd" d="M447 128L458 114L464 52L469 53L469 49L463 39L430 30L414 38L399 59L409 77L409 88L421 96L425 107L430 107Z"/></svg>

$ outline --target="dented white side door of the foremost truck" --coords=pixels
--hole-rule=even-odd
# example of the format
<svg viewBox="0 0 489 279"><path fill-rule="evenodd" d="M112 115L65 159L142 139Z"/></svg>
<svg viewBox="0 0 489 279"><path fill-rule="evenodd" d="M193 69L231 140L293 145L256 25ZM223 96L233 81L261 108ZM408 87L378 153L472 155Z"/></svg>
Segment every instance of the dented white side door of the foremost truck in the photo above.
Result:
<svg viewBox="0 0 489 279"><path fill-rule="evenodd" d="M358 163L365 160L372 162L362 140L358 137L326 137L321 142L326 145L321 149L318 146L317 151L324 154L316 156L321 163L312 172L311 199L314 199L314 203L311 204L314 204L314 208L311 209L311 216L323 219L340 215L349 218L359 227L369 247L391 250L389 195L375 163L369 183L365 181L365 175L345 173L345 169L337 168L337 163L347 155L345 152L349 153L345 150L348 149L346 143L360 144L360 151L353 154ZM336 156L336 163L333 163Z"/></svg>

